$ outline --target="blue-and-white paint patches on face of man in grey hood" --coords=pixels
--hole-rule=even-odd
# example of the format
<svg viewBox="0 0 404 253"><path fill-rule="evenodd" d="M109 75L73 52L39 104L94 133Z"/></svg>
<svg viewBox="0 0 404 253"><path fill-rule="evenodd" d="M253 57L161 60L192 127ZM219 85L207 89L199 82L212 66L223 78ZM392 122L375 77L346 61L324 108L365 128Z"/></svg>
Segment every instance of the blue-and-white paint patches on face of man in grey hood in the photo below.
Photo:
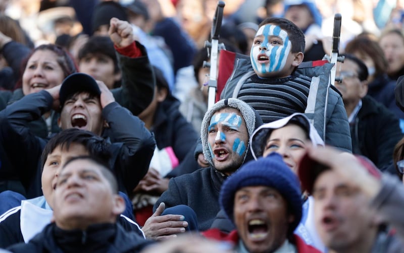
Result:
<svg viewBox="0 0 404 253"><path fill-rule="evenodd" d="M233 135L234 132L239 132L241 123L242 118L234 112L218 113L211 118L208 133L210 135L216 134L215 143L227 142L231 144L231 142L233 142L232 151L238 156L242 156L246 149L244 141L241 141L238 137L236 137L235 139L230 137L230 135ZM234 132L232 130L234 130ZM212 157L215 157L211 143L209 143L209 149L211 151Z"/></svg>

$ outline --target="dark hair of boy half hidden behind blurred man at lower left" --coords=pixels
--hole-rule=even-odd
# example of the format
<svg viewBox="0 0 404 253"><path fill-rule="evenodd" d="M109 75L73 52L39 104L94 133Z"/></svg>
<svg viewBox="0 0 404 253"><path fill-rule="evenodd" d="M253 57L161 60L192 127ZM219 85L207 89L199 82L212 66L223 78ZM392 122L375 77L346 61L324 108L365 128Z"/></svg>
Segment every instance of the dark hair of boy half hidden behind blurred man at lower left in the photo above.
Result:
<svg viewBox="0 0 404 253"><path fill-rule="evenodd" d="M89 155L98 157L103 160L104 163L109 163L111 153L108 150L109 144L104 138L89 131L71 128L58 133L45 145L41 154L41 170L43 170L47 156L50 153L52 153L57 147L60 147L62 150L68 150L72 143L83 145Z"/></svg>

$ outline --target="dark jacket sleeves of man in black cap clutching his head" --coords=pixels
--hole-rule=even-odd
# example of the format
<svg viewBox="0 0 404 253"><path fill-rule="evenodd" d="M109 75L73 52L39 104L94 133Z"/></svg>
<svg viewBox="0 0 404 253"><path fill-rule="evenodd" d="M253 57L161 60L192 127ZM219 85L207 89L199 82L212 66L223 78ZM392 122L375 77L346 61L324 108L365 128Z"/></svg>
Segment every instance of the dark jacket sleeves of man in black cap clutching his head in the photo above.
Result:
<svg viewBox="0 0 404 253"><path fill-rule="evenodd" d="M28 123L51 110L53 98L47 91L24 96L0 112L0 137L7 145L6 155L12 161L28 198L42 195L40 155L48 139L37 137ZM118 180L119 191L132 192L146 174L155 149L154 136L143 121L117 102L104 107L103 118L108 133L114 136L109 146L111 168Z"/></svg>

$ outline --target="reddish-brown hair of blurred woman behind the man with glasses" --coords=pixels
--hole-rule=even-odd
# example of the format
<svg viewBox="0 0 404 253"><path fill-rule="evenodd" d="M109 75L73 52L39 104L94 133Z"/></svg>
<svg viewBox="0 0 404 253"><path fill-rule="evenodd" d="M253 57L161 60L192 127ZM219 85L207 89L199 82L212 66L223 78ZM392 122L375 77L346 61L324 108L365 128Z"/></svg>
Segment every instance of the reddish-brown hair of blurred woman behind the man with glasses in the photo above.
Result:
<svg viewBox="0 0 404 253"><path fill-rule="evenodd" d="M383 49L379 43L367 35L357 36L350 40L346 46L346 53L359 54L361 56L370 57L375 65L375 76L386 73L388 62L384 57Z"/></svg>

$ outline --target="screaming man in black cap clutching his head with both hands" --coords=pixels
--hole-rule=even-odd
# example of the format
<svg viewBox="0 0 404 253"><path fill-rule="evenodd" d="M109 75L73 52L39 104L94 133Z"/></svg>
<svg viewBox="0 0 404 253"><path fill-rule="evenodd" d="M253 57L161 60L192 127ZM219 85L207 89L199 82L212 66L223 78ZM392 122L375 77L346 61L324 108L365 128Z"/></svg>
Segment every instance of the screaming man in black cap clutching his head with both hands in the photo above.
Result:
<svg viewBox="0 0 404 253"><path fill-rule="evenodd" d="M36 137L28 123L60 103L62 130L78 128L113 140L112 164L119 189L131 192L146 174L155 148L153 135L144 123L115 102L103 82L83 73L67 77L62 85L24 96L0 115L0 131L8 143L7 155L19 164L16 168L29 185L28 195L42 195L39 157L47 140ZM23 156L21 156L23 154ZM136 166L134 166L136 164Z"/></svg>

